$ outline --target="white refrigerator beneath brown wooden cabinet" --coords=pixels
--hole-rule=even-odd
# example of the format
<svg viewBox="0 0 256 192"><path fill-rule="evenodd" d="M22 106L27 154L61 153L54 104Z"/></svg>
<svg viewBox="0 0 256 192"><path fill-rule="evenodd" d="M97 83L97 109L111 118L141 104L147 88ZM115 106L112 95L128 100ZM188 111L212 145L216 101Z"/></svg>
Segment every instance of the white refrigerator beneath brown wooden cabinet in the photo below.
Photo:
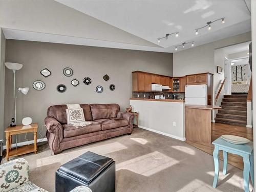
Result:
<svg viewBox="0 0 256 192"><path fill-rule="evenodd" d="M207 105L207 85L186 85L186 105Z"/></svg>

